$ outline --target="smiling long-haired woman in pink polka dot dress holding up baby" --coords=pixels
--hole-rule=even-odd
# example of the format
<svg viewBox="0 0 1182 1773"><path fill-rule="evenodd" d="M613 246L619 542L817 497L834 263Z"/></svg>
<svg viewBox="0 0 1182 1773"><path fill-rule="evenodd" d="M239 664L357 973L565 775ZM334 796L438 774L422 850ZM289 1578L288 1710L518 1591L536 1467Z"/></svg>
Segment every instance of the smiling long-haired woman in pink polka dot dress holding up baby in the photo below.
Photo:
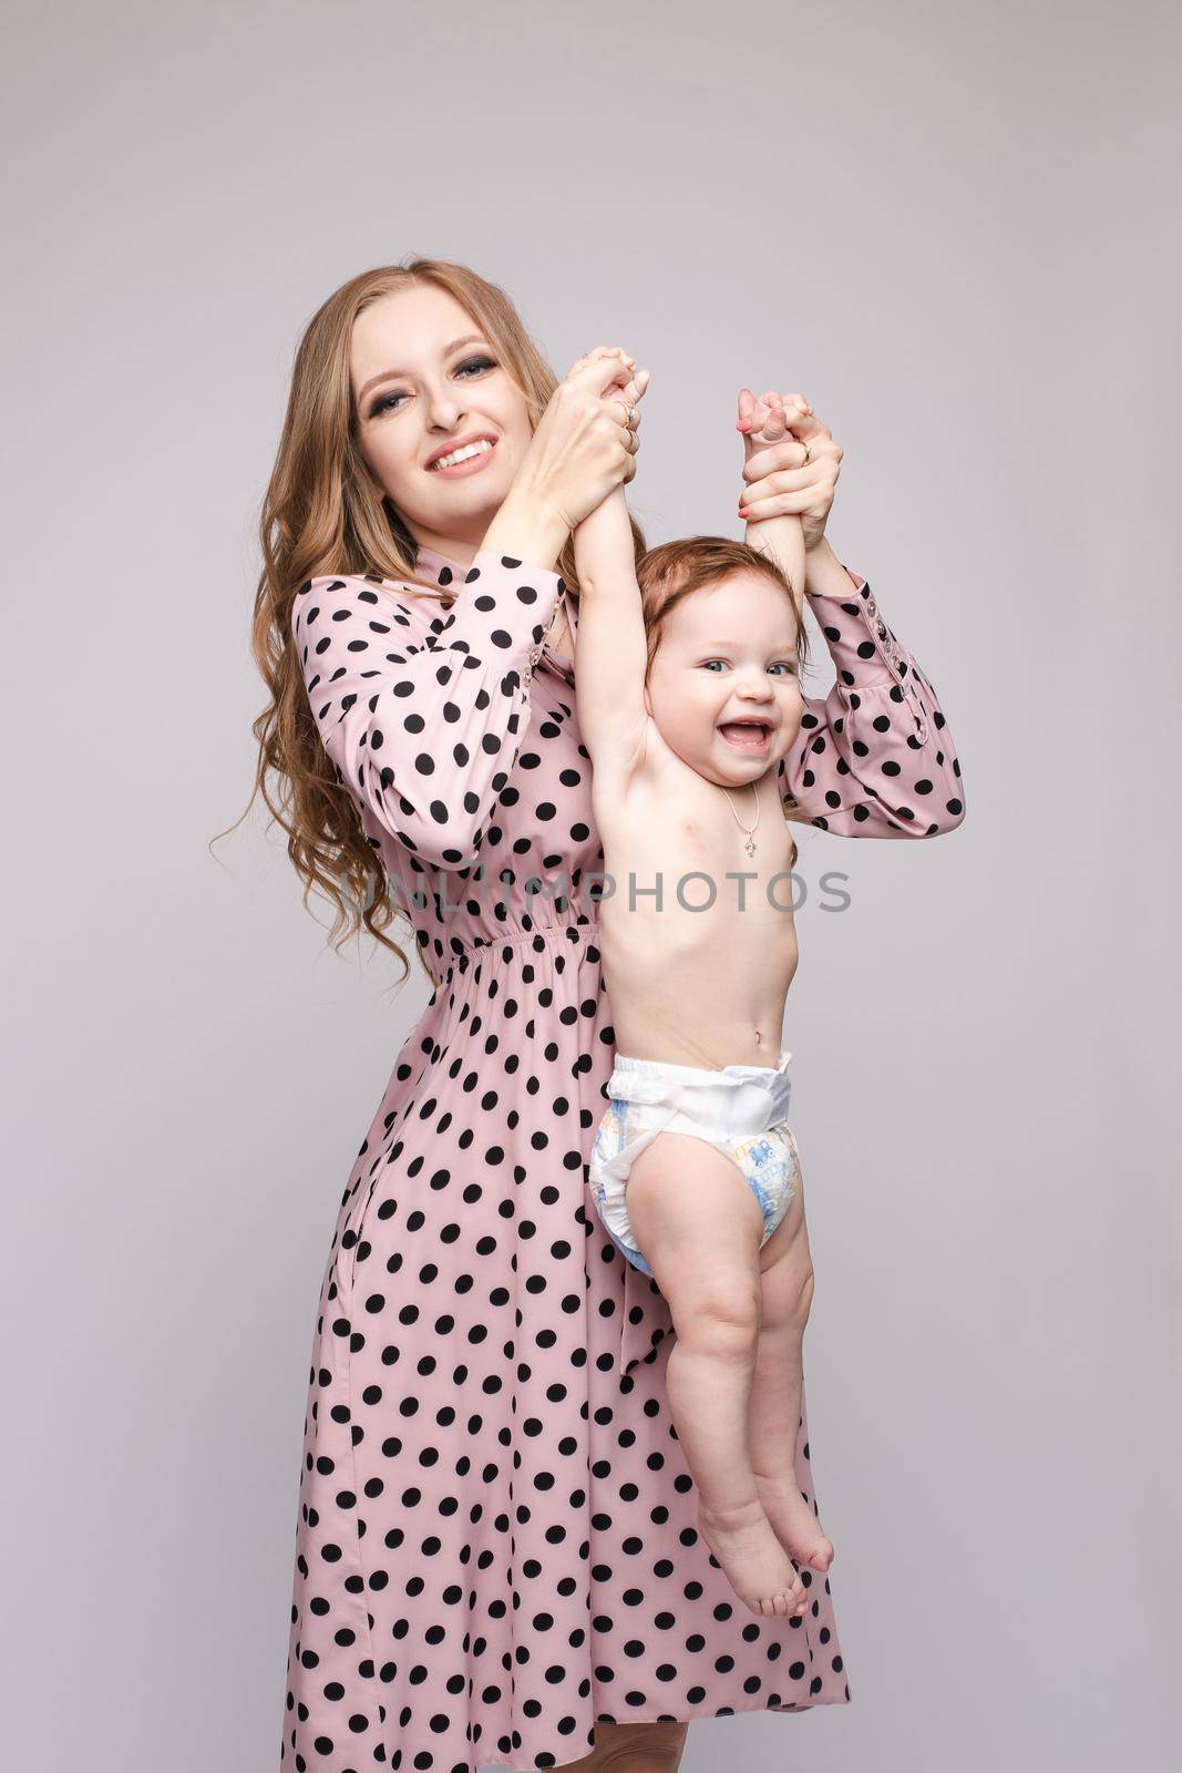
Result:
<svg viewBox="0 0 1182 1773"><path fill-rule="evenodd" d="M571 532L634 472L638 420L604 399L617 369L604 348L556 385L502 291L422 259L338 289L296 356L262 516L259 787L305 902L314 885L335 902L333 936L363 924L406 965L383 933L406 917L434 993L324 1271L294 1768L675 1769L693 1716L849 1699L828 1578L801 1573L803 1619L760 1622L698 1539L668 1310L585 1193L613 1032L583 886L603 853ZM840 456L813 436L813 457ZM780 450L796 452L780 466L803 454ZM783 509L782 484L750 491ZM845 833L950 830L930 684L865 582L851 601L828 543L810 562L836 592L806 580L840 681L806 704L785 810ZM920 812L879 769L900 723ZM813 1505L803 1413L796 1475Z"/></svg>

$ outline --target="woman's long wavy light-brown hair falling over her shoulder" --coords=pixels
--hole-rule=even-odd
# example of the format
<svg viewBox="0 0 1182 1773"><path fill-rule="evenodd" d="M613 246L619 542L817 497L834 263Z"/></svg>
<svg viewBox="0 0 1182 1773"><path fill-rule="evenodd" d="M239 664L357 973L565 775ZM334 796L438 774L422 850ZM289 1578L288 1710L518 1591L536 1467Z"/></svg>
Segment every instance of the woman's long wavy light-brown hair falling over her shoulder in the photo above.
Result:
<svg viewBox="0 0 1182 1773"><path fill-rule="evenodd" d="M312 720L296 645L291 606L299 585L323 573L333 576L376 573L409 587L411 596L454 596L418 573L415 539L385 488L374 479L358 441L349 356L353 324L374 301L413 284L447 291L470 314L512 378L537 429L558 378L530 337L503 289L463 264L445 259L408 259L349 278L315 310L296 348L287 413L275 468L259 516L262 571L255 590L252 652L266 684L266 707L253 722L259 741L255 784L234 830L261 794L271 819L287 833L287 855L303 879L303 904L319 892L335 911L328 940L340 949L365 927L402 965L404 950L385 934L402 920L404 906L392 901L390 879L376 846L365 835L349 791L337 782L333 764ZM636 560L645 537L633 523ZM578 608L574 541L567 537L556 560ZM275 791L273 791L275 789ZM218 833L225 835L225 833ZM418 943L424 970L438 984Z"/></svg>

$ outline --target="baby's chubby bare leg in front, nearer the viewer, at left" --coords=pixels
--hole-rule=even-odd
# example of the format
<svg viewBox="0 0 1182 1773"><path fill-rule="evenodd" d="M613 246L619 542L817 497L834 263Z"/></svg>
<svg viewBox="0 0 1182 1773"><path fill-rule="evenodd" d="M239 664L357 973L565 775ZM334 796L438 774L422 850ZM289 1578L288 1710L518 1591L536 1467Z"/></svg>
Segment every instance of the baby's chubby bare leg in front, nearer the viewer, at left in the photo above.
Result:
<svg viewBox="0 0 1182 1773"><path fill-rule="evenodd" d="M764 1512L748 1452L758 1204L714 1145L659 1133L629 1172L627 1218L673 1319L666 1390L698 1488L698 1530L753 1613L803 1613L805 1585Z"/></svg>

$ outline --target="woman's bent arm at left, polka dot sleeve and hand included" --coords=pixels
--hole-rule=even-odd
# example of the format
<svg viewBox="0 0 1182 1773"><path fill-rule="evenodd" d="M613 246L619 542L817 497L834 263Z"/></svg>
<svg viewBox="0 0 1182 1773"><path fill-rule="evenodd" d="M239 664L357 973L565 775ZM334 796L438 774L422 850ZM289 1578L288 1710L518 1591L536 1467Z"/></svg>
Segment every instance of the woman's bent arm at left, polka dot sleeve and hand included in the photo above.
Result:
<svg viewBox="0 0 1182 1773"><path fill-rule="evenodd" d="M604 401L620 367L618 348L601 348L558 383L447 615L369 576L312 578L292 601L296 656L337 778L436 867L478 860L565 590L555 560L633 468L618 402Z"/></svg>

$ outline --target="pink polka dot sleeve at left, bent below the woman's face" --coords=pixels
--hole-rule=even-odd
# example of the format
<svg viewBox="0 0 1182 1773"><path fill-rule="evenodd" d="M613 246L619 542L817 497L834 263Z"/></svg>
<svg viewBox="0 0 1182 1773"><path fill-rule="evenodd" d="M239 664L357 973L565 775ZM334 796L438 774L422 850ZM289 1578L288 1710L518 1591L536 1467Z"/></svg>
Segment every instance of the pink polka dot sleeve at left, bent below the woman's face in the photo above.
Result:
<svg viewBox="0 0 1182 1773"><path fill-rule="evenodd" d="M450 613L427 624L425 599L377 578L310 578L296 592L296 656L337 780L434 867L478 860L562 590L553 571L480 551Z"/></svg>

